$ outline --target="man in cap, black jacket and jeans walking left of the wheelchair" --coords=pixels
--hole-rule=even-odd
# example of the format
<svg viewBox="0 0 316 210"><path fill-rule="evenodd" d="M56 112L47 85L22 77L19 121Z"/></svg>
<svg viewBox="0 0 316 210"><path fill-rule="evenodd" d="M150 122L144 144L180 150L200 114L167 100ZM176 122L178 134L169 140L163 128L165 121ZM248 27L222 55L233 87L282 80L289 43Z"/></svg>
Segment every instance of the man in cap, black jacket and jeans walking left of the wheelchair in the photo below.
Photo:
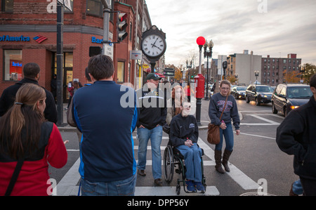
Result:
<svg viewBox="0 0 316 210"><path fill-rule="evenodd" d="M150 139L152 147L152 176L154 185L162 186L162 126L166 124L166 107L163 91L158 87L159 75L150 73L147 83L137 93L140 106L140 116L137 124L138 145L138 174L146 176L147 144Z"/></svg>

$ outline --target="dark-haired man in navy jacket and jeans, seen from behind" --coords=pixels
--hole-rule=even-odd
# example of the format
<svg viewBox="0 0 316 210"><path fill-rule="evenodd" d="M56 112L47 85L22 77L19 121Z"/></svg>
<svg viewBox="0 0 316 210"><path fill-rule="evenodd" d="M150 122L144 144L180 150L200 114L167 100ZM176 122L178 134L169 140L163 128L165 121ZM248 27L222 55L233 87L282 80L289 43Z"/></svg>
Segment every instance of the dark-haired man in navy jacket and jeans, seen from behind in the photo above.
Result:
<svg viewBox="0 0 316 210"><path fill-rule="evenodd" d="M74 122L83 135L81 195L134 195L132 133L138 120L136 93L113 81L114 66L107 55L90 58L88 71L94 84L77 90L72 108ZM121 104L125 96L131 100L127 107Z"/></svg>

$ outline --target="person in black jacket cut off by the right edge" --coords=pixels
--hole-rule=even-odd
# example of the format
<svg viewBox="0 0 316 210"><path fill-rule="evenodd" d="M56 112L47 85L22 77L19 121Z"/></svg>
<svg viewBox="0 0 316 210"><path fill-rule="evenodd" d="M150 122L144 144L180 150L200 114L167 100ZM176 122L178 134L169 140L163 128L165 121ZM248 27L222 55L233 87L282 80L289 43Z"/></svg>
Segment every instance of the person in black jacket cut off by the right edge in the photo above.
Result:
<svg viewBox="0 0 316 210"><path fill-rule="evenodd" d="M277 145L294 155L294 173L300 177L305 195L316 195L316 74L310 79L313 96L289 112L277 128Z"/></svg>

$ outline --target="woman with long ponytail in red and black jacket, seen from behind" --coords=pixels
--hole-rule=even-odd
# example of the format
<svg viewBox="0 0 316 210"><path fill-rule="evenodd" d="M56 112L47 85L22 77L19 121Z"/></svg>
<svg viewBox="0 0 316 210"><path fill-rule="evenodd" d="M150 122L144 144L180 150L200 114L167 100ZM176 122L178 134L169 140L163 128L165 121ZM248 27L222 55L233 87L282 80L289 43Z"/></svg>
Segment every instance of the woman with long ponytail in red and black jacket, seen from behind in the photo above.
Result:
<svg viewBox="0 0 316 210"><path fill-rule="evenodd" d="M23 84L0 119L0 195L51 195L48 162L58 169L67 163L67 141L46 122L45 99L44 88Z"/></svg>

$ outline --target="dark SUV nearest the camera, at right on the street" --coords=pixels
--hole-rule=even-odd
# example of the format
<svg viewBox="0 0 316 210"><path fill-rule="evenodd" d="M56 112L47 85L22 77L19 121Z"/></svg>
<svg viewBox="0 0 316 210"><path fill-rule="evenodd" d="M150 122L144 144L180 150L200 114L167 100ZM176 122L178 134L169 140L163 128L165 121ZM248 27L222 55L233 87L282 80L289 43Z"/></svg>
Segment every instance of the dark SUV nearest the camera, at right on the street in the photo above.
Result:
<svg viewBox="0 0 316 210"><path fill-rule="evenodd" d="M306 84L279 84L272 94L272 112L282 112L284 116L299 106L308 103L312 91Z"/></svg>

